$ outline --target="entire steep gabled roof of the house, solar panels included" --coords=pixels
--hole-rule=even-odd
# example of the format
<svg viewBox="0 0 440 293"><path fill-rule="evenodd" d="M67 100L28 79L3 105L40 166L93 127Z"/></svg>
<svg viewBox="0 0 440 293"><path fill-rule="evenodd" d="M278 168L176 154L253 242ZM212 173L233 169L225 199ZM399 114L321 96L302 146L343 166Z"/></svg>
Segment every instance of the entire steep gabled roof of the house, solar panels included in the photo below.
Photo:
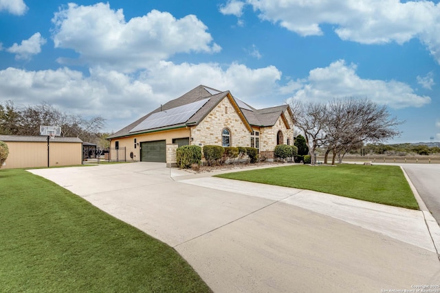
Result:
<svg viewBox="0 0 440 293"><path fill-rule="evenodd" d="M177 99L170 100L166 104L151 111L151 113L148 113L144 117L137 119L132 124L111 135L109 139L197 125L225 97L230 99L230 102L234 106L237 113L241 116L243 123L249 130L252 130L251 126L273 126L278 118L283 115L283 112L288 108L287 105L284 105L257 110L240 99L234 98L230 91L219 91L208 86L199 85L195 87L195 89L188 91L188 93L181 95ZM188 107L186 107L187 105ZM179 113L180 110L184 111L188 110L188 108L194 110L194 112L193 114L191 112L192 110L187 112L192 115L187 120L186 117L188 116L185 115L181 115L180 119L179 117L177 117L177 119L172 119L171 117L168 119L167 117L167 110L169 110L169 113ZM152 123L151 121L154 119L162 119L161 121L163 122L162 124Z"/></svg>

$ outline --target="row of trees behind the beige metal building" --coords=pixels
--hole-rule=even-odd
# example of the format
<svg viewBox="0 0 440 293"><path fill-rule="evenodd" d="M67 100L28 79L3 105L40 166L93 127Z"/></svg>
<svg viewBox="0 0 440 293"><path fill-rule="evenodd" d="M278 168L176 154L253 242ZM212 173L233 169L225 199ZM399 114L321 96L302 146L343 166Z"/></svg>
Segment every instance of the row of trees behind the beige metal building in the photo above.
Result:
<svg viewBox="0 0 440 293"><path fill-rule="evenodd" d="M40 135L40 126L60 126L62 137L79 137L82 141L96 143L106 148L108 133L101 132L105 119L97 116L85 119L58 110L47 102L35 106L17 107L12 101L0 103L0 134Z"/></svg>

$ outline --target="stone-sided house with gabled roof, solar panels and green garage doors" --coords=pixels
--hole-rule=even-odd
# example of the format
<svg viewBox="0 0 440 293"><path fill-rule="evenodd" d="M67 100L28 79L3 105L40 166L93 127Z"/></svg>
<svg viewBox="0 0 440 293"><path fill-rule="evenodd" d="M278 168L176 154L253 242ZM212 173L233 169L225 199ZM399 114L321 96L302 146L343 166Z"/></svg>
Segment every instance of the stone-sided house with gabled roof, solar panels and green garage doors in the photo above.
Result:
<svg viewBox="0 0 440 293"><path fill-rule="evenodd" d="M276 145L294 143L293 128L288 105L256 109L200 85L111 135L110 159L173 163L180 145L253 147L273 159Z"/></svg>

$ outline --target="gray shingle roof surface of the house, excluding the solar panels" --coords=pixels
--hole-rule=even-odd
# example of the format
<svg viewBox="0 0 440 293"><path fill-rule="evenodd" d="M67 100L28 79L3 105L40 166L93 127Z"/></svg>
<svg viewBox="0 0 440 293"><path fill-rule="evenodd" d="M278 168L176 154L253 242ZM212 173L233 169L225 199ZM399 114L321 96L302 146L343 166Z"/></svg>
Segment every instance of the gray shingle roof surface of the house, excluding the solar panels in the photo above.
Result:
<svg viewBox="0 0 440 293"><path fill-rule="evenodd" d="M230 94L230 91L219 91L217 89L212 89L208 86L199 85L195 89L188 91L188 93L181 95L181 97L170 100L166 104L151 111L151 113L148 113L144 117L141 117L140 119L134 121L132 124L129 124L128 126L122 128L118 132L115 132L115 134L111 135L109 139L113 139L115 137L125 137L129 135L140 134L145 132L166 130L170 128L184 127L186 125L197 125L228 94ZM166 125L155 129L131 132L133 128L141 124L142 121L144 121L146 118L148 118L150 115L153 115L154 113L158 113L164 110L169 110L179 106L184 106L186 104L201 101L202 99L206 99L206 98L209 98L208 102L206 102L206 104L201 106L201 108L199 108L199 110L197 110L197 112L194 115L192 115L192 117L190 117L185 123L176 124L176 125ZM245 119L252 126L273 126L276 123L278 117L280 117L281 113L283 113L283 111L285 111L285 109L287 109L288 107L287 105L284 105L284 106L276 106L272 108L264 108L257 110L252 106L249 106L248 104L244 103L243 101L236 99L235 97L233 98L236 101L236 104L238 104L239 107L241 108L241 111L245 116Z"/></svg>

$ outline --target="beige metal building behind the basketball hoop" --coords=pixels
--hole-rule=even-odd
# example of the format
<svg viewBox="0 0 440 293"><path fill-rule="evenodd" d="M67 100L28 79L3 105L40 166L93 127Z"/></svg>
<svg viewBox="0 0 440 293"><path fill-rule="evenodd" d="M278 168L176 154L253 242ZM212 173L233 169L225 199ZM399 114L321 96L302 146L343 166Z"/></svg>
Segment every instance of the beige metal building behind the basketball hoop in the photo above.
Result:
<svg viewBox="0 0 440 293"><path fill-rule="evenodd" d="M47 167L47 137L0 135L9 148L2 169ZM83 163L83 141L78 137L55 137L49 143L49 165L68 166Z"/></svg>

